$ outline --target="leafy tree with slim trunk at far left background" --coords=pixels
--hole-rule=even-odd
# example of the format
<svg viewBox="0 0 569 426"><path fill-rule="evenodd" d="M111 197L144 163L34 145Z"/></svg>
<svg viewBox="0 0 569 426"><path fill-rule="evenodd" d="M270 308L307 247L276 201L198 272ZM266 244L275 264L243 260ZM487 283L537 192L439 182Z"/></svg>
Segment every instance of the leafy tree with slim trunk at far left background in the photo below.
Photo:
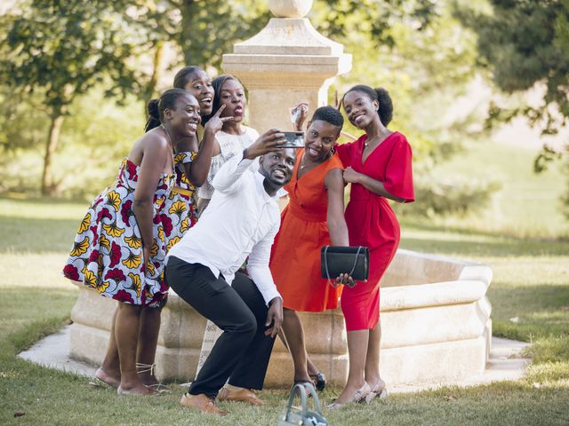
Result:
<svg viewBox="0 0 569 426"><path fill-rule="evenodd" d="M139 92L144 79L129 61L145 38L122 2L33 0L25 6L0 22L0 78L14 95L41 99L49 117L42 193L52 193L52 157L69 106L105 76L112 82L107 96Z"/></svg>

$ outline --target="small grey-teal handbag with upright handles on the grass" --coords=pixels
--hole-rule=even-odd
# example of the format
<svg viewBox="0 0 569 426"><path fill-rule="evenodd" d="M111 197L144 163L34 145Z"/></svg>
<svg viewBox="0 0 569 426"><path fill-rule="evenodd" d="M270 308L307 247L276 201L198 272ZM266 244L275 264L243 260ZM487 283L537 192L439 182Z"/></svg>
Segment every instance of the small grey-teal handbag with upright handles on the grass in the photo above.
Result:
<svg viewBox="0 0 569 426"><path fill-rule="evenodd" d="M307 406L306 391L309 390L310 396L314 401L316 412L309 411ZM299 395L301 398L301 406L293 406L294 397ZM324 414L322 414L322 406L318 399L317 391L312 383L295 383L291 394L288 397L286 411L278 419L278 426L328 426Z"/></svg>

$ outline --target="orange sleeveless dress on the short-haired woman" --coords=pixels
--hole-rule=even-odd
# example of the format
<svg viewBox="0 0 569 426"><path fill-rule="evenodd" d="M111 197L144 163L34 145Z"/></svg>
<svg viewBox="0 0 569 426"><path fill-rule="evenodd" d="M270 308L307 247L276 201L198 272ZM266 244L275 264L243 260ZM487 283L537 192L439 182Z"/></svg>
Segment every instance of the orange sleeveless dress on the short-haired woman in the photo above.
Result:
<svg viewBox="0 0 569 426"><path fill-rule="evenodd" d="M300 179L300 149L291 182L284 186L289 203L281 213L281 227L273 244L270 271L284 307L293 311L322 312L338 307L341 287L321 278L320 248L330 245L326 225L328 194L324 180L332 169L343 169L338 154L306 172Z"/></svg>

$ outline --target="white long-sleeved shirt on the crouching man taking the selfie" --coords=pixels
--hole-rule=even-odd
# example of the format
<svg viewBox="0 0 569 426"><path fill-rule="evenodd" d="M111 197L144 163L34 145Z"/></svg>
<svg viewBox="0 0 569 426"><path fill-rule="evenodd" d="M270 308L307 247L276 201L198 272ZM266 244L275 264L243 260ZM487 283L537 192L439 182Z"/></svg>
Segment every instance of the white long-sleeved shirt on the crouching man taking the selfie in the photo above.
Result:
<svg viewBox="0 0 569 426"><path fill-rule="evenodd" d="M213 178L212 201L167 257L203 264L216 277L222 273L231 285L249 256L247 272L268 304L280 297L268 269L280 212L276 197L265 191L265 177L249 167L253 161L256 159L246 160L241 153L221 166Z"/></svg>

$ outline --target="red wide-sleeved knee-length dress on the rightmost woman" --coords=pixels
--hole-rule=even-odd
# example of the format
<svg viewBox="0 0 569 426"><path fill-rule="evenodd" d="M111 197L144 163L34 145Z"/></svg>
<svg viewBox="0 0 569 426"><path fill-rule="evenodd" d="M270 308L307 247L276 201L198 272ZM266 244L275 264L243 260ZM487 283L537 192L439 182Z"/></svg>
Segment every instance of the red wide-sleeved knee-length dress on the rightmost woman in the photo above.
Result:
<svg viewBox="0 0 569 426"><path fill-rule="evenodd" d="M344 167L379 180L385 189L405 202L414 201L412 150L397 131L385 138L362 162L366 135L349 144L336 146ZM399 223L389 201L364 185L352 184L346 208L351 246L370 249L370 276L344 288L341 310L348 331L373 329L380 318L380 280L399 245Z"/></svg>

